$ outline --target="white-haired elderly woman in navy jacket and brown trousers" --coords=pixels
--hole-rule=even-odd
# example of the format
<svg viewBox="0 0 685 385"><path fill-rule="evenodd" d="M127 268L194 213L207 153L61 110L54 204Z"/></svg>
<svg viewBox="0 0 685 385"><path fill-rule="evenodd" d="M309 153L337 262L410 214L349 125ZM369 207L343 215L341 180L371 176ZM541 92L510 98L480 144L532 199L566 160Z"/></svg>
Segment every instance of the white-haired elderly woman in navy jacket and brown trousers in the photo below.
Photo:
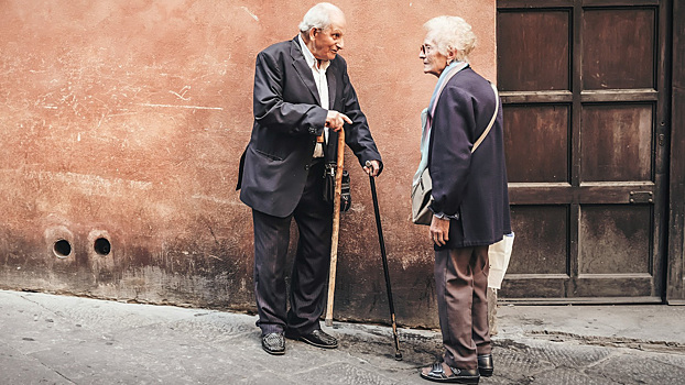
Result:
<svg viewBox="0 0 685 385"><path fill-rule="evenodd" d="M427 109L417 173L427 167L433 182L430 233L445 352L442 362L423 369L421 376L478 384L493 370L488 246L511 232L502 110L494 88L468 65L476 43L471 26L461 18L438 16L424 28L418 57L424 73L438 81Z"/></svg>

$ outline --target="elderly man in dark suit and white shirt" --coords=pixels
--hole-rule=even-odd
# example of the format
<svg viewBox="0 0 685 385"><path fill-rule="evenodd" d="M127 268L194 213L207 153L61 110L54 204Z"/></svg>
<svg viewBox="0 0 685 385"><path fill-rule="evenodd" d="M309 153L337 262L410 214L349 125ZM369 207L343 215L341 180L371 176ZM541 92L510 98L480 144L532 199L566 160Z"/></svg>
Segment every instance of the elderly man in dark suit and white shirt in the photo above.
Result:
<svg viewBox="0 0 685 385"><path fill-rule="evenodd" d="M324 174L327 161L335 160L338 132L345 129L345 142L367 174L378 176L382 169L347 64L338 55L345 30L342 12L318 3L304 15L297 36L257 56L254 125L238 188L252 208L257 324L270 354L285 353L284 338L326 349L338 345L319 326L333 231ZM284 273L293 218L300 239L286 311Z"/></svg>

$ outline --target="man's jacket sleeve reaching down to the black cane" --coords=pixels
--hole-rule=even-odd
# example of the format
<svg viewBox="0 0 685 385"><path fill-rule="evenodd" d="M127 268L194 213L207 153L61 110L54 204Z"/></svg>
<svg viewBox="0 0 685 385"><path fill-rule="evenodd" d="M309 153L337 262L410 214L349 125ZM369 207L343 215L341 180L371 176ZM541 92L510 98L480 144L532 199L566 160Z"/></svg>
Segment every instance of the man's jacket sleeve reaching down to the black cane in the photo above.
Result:
<svg viewBox="0 0 685 385"><path fill-rule="evenodd" d="M347 66L345 66L342 70L342 84L345 111L341 112L352 121L352 124L345 124L345 143L352 148L352 152L357 155L357 158L362 166L367 161L378 161L380 162L382 169L383 163L381 154L376 147L376 142L373 142L373 138L371 136L367 117L363 112L361 112L361 107L359 107L357 92L355 91L355 87L352 87L349 76L347 75Z"/></svg>

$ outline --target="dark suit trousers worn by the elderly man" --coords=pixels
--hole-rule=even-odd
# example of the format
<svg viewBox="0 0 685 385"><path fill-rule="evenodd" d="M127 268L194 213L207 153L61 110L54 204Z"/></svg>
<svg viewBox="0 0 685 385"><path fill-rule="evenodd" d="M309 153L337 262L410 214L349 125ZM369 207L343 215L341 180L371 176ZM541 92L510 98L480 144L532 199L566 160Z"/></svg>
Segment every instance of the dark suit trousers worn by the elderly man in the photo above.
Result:
<svg viewBox="0 0 685 385"><path fill-rule="evenodd" d="M279 218L252 210L254 222L254 295L262 333L319 329L330 267L333 206L323 200L324 162L312 164L295 211ZM285 264L290 228L300 231L286 311Z"/></svg>

